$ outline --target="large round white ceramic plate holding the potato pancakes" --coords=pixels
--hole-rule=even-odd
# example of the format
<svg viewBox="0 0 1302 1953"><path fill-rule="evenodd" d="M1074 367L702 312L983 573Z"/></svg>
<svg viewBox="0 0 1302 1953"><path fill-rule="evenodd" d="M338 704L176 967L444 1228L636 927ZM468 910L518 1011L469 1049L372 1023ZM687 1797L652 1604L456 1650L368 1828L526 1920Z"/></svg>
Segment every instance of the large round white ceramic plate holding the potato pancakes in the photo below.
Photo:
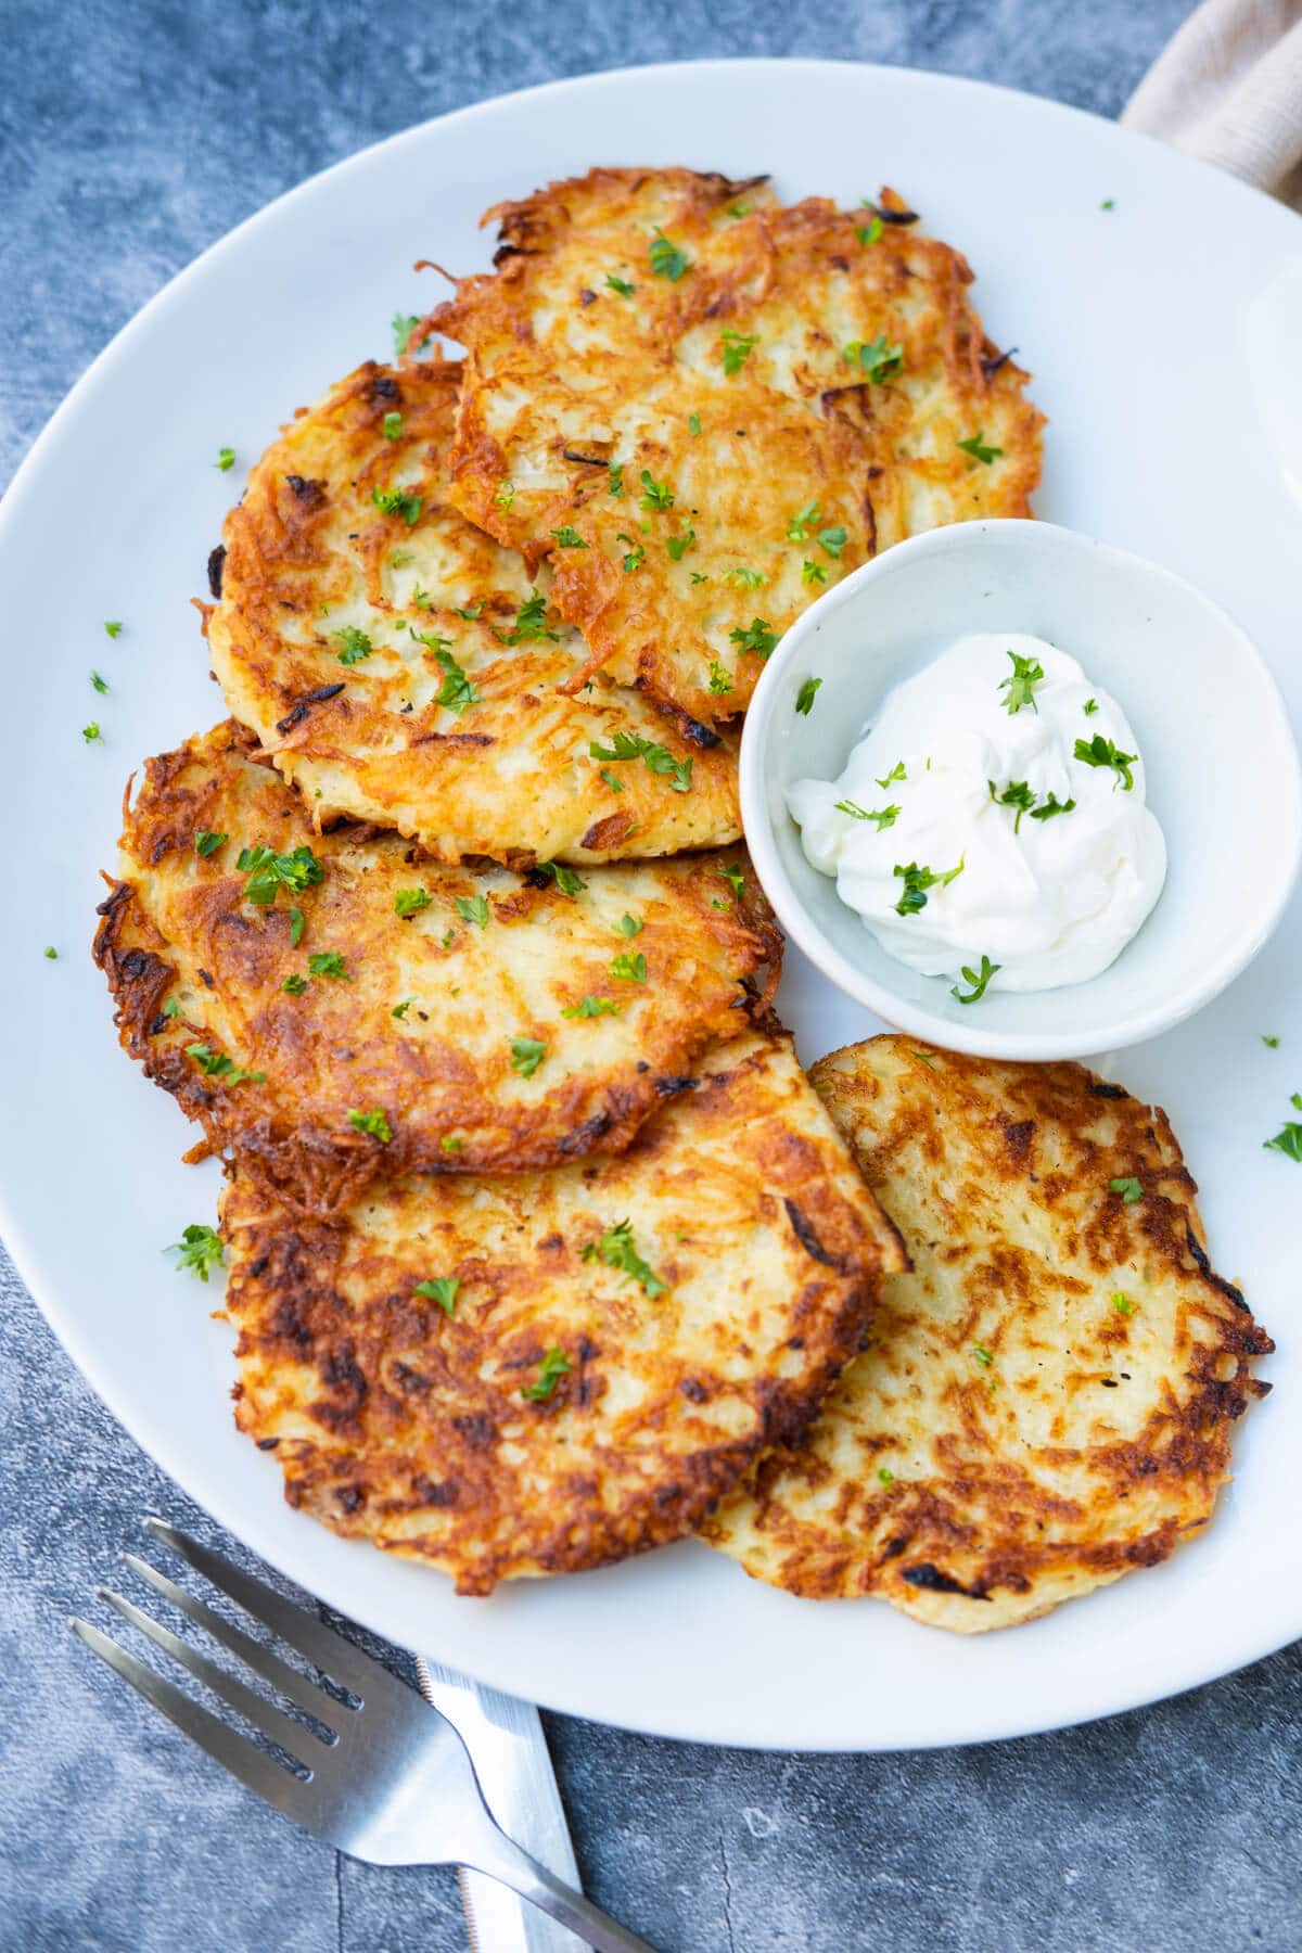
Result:
<svg viewBox="0 0 1302 1953"><path fill-rule="evenodd" d="M902 189L970 256L990 332L1037 375L1050 416L1038 512L1199 582L1253 633L1296 715L1302 227L1265 197L1048 102L834 62L603 74L414 129L178 277L98 359L0 506L2 1230L94 1387L221 1523L346 1613L496 1687L670 1736L810 1750L970 1742L1126 1709L1302 1633L1302 1168L1261 1150L1302 1088L1296 902L1238 984L1120 1066L1175 1121L1218 1264L1281 1342L1281 1389L1241 1432L1206 1539L1011 1635L960 1641L873 1603L796 1601L697 1543L455 1600L439 1576L285 1508L275 1463L230 1422L217 1295L162 1254L213 1217L217 1168L180 1164L193 1129L115 1049L88 935L127 771L221 713L187 603L242 478L213 469L217 449L246 463L297 402L385 353L390 314L437 289L414 258L484 266L476 219L498 197L591 162L683 160L771 170L793 195ZM115 643L105 617L125 623ZM90 719L102 746L82 744ZM806 1060L875 1029L796 955L783 1004Z"/></svg>

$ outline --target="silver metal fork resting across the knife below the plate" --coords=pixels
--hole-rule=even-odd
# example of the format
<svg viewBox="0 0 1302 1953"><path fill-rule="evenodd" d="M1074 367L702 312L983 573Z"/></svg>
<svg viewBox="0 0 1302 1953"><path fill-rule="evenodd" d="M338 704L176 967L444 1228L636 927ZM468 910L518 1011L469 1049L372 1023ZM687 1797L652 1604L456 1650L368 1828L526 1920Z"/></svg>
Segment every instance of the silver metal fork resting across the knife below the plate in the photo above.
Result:
<svg viewBox="0 0 1302 1953"><path fill-rule="evenodd" d="M211 1553L164 1519L144 1519L144 1527L351 1697L342 1703L148 1560L123 1553L123 1562L141 1580L312 1719L310 1724L301 1723L277 1709L238 1676L160 1627L144 1609L111 1588L98 1588L102 1600L293 1762L289 1767L250 1742L90 1621L74 1617L68 1623L123 1682L240 1783L349 1857L369 1865L468 1865L509 1885L521 1898L588 1939L597 1953L654 1953L646 1939L627 1932L511 1844L492 1818L470 1756L447 1717L351 1641L344 1641L262 1580L240 1572L221 1553Z"/></svg>

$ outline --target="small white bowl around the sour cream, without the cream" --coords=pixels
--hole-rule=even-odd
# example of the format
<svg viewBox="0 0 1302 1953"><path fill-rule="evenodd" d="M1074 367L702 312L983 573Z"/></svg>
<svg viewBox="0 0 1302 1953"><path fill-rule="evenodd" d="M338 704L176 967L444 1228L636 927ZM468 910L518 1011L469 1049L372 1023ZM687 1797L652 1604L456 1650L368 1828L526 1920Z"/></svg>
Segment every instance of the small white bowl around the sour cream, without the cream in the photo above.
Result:
<svg viewBox="0 0 1302 1953"><path fill-rule="evenodd" d="M1130 721L1167 881L1120 957L1060 990L990 990L886 955L804 859L796 779L835 779L884 695L974 631L1027 631L1079 658ZM822 680L798 715L806 678ZM1302 773L1284 701L1245 633L1183 578L1046 521L964 521L896 543L787 631L742 738L742 820L787 934L847 996L953 1051L1117 1051L1208 1004L1279 922L1302 855Z"/></svg>

